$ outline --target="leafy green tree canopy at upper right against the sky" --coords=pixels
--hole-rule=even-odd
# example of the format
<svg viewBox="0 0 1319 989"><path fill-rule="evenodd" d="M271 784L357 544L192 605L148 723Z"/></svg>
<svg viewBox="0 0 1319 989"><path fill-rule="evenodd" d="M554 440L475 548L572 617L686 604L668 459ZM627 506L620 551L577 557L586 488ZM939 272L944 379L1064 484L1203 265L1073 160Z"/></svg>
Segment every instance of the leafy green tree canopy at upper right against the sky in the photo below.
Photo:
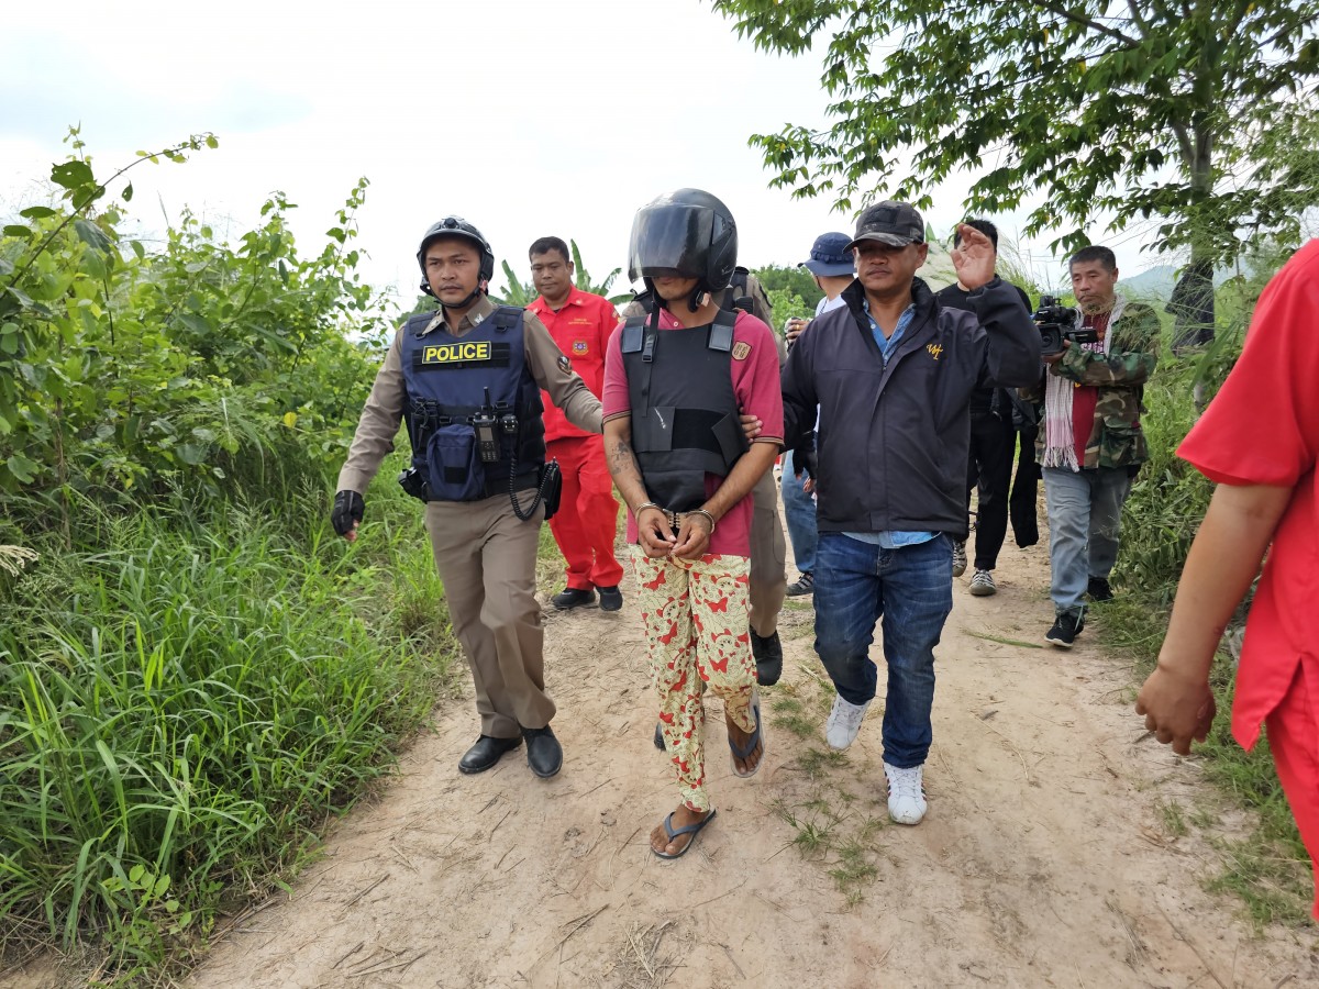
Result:
<svg viewBox="0 0 1319 989"><path fill-rule="evenodd" d="M1025 232L1087 243L1159 220L1158 249L1235 256L1295 239L1319 202L1319 0L714 0L765 50L831 36L832 125L756 135L797 196L930 206L955 170L988 215L1043 200ZM856 206L860 202L855 203Z"/></svg>

